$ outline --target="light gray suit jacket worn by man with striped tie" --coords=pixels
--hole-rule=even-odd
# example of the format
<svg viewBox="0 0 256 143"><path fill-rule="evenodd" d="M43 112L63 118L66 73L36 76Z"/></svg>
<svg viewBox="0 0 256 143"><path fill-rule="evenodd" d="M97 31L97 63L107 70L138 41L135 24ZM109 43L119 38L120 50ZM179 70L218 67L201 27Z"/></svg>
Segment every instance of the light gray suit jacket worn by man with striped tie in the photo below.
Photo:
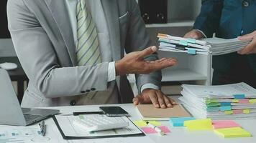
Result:
<svg viewBox="0 0 256 143"><path fill-rule="evenodd" d="M102 0L114 61L127 53L150 46L150 38L134 0ZM86 91L105 91L108 63L77 66L73 32L63 0L9 0L9 31L29 87L22 101L25 107L69 105ZM145 58L157 59L156 54ZM152 83L160 86L161 73L137 74L137 87ZM132 102L127 78L117 77L123 103ZM25 101L24 101L25 100Z"/></svg>

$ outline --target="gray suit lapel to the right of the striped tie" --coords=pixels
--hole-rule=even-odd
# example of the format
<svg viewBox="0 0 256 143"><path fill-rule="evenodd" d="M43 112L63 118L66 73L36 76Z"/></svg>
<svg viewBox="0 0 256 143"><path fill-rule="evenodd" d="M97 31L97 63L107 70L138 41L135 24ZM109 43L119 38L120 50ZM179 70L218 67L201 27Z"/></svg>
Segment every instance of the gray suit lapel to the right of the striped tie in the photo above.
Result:
<svg viewBox="0 0 256 143"><path fill-rule="evenodd" d="M121 43L119 28L119 9L117 0L101 0L102 7L106 16L111 42L111 53L113 60L121 59Z"/></svg>

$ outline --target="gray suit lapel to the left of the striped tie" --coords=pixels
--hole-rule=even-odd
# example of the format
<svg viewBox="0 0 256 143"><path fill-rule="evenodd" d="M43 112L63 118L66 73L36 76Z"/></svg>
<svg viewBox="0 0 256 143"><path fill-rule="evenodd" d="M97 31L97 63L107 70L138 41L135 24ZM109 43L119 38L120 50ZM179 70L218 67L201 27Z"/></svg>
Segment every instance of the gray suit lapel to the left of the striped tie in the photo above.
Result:
<svg viewBox="0 0 256 143"><path fill-rule="evenodd" d="M73 65L76 66L76 46L73 39L73 31L65 2L63 0L45 0L45 2L50 9L53 18L55 19L56 24L58 25L60 34L63 36L70 59Z"/></svg>

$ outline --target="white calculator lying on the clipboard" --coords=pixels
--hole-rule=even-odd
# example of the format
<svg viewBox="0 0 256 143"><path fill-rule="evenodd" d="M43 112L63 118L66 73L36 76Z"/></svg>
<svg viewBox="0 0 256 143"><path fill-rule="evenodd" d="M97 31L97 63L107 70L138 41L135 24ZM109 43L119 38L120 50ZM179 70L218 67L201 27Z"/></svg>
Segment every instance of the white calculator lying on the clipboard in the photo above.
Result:
<svg viewBox="0 0 256 143"><path fill-rule="evenodd" d="M73 120L76 127L85 129L87 132L119 129L129 126L127 117L107 117L104 114L88 114L83 119Z"/></svg>

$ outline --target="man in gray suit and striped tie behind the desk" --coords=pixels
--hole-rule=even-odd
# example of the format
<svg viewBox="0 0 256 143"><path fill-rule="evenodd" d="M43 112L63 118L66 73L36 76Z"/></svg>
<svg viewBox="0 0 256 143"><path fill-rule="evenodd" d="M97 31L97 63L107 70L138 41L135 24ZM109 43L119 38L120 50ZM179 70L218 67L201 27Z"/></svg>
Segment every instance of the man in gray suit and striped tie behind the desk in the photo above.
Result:
<svg viewBox="0 0 256 143"><path fill-rule="evenodd" d="M22 107L132 102L172 107L160 91L160 69L134 0L9 0L9 31L29 77ZM124 56L124 51L127 55Z"/></svg>

